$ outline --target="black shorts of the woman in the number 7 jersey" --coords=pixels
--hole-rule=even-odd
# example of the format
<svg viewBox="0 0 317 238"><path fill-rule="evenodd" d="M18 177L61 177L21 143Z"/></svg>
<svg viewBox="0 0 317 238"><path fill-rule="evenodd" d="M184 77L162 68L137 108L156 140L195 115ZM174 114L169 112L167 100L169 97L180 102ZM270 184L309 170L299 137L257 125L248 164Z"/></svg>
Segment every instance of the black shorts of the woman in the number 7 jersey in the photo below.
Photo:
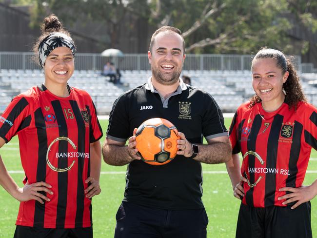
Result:
<svg viewBox="0 0 317 238"><path fill-rule="evenodd" d="M241 203L236 238L312 238L311 204L251 207Z"/></svg>

